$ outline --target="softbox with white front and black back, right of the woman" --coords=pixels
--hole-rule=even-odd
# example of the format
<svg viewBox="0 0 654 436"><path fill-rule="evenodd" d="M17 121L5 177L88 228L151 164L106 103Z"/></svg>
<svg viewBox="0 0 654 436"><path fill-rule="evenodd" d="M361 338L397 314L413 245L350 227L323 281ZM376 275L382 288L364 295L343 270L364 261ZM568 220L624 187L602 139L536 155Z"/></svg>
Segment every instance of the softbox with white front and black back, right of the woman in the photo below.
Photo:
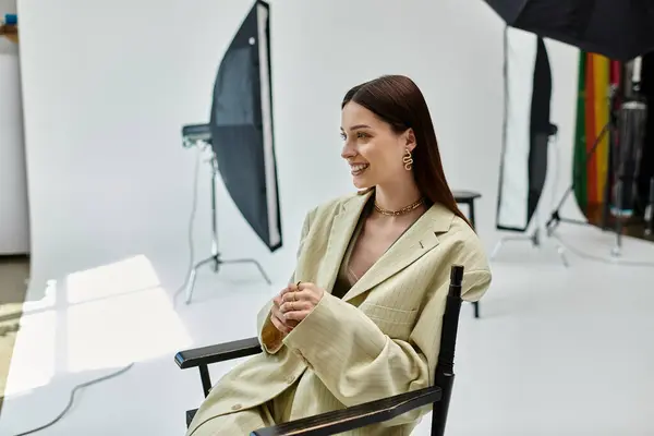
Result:
<svg viewBox="0 0 654 436"><path fill-rule="evenodd" d="M505 28L505 113L496 227L525 231L547 182L552 69L543 38Z"/></svg>

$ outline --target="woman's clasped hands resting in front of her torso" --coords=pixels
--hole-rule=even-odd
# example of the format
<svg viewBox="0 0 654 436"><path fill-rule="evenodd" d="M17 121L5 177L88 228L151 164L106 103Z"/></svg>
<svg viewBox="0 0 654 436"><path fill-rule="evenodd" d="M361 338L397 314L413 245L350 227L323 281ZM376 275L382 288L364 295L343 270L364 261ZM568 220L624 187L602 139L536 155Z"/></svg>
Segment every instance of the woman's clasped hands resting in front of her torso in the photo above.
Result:
<svg viewBox="0 0 654 436"><path fill-rule="evenodd" d="M270 322L282 334L291 332L320 302L325 291L314 283L289 284L272 299Z"/></svg>

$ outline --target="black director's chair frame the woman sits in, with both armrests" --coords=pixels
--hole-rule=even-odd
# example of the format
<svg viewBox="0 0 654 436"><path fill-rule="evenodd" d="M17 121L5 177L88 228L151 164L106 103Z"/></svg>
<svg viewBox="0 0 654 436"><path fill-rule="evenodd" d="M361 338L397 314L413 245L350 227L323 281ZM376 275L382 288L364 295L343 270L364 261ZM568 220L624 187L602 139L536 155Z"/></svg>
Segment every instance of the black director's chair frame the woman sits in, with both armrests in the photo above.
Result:
<svg viewBox="0 0 654 436"><path fill-rule="evenodd" d="M316 416L261 428L251 433L251 436L335 435L354 428L365 427L371 424L389 421L427 404L433 404L432 435L444 435L455 382L455 349L459 328L459 313L461 311L462 281L463 266L452 266L450 271L449 292L447 295L445 313L443 315L440 351L436 364L434 386L334 412L323 413ZM262 347L258 342L258 338L250 338L180 351L174 356L174 361L182 370L191 367L198 368L203 391L206 397L211 389L211 380L208 371L209 364L254 355L261 352ZM197 410L190 410L186 412L186 426L191 424L196 411Z"/></svg>

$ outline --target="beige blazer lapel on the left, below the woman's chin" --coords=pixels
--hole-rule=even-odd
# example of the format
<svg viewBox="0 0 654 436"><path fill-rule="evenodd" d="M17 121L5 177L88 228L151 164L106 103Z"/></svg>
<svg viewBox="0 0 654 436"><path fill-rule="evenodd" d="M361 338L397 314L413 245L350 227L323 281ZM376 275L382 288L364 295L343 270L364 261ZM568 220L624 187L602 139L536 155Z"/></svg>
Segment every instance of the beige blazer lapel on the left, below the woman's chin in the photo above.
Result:
<svg viewBox="0 0 654 436"><path fill-rule="evenodd" d="M352 197L341 206L340 211L334 217L327 253L324 257L317 284L331 293L343 255L352 239L359 218L372 192Z"/></svg>

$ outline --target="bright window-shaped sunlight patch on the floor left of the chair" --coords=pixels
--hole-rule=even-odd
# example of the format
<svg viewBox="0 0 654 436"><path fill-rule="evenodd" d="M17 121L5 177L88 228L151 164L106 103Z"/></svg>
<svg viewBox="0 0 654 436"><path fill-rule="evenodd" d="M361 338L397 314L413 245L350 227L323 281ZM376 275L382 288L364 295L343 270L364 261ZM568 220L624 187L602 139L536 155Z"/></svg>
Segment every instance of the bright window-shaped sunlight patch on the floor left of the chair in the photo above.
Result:
<svg viewBox="0 0 654 436"><path fill-rule="evenodd" d="M37 344L38 346L35 346ZM193 343L150 262L135 256L48 282L25 304L7 396L57 375L116 368Z"/></svg>

